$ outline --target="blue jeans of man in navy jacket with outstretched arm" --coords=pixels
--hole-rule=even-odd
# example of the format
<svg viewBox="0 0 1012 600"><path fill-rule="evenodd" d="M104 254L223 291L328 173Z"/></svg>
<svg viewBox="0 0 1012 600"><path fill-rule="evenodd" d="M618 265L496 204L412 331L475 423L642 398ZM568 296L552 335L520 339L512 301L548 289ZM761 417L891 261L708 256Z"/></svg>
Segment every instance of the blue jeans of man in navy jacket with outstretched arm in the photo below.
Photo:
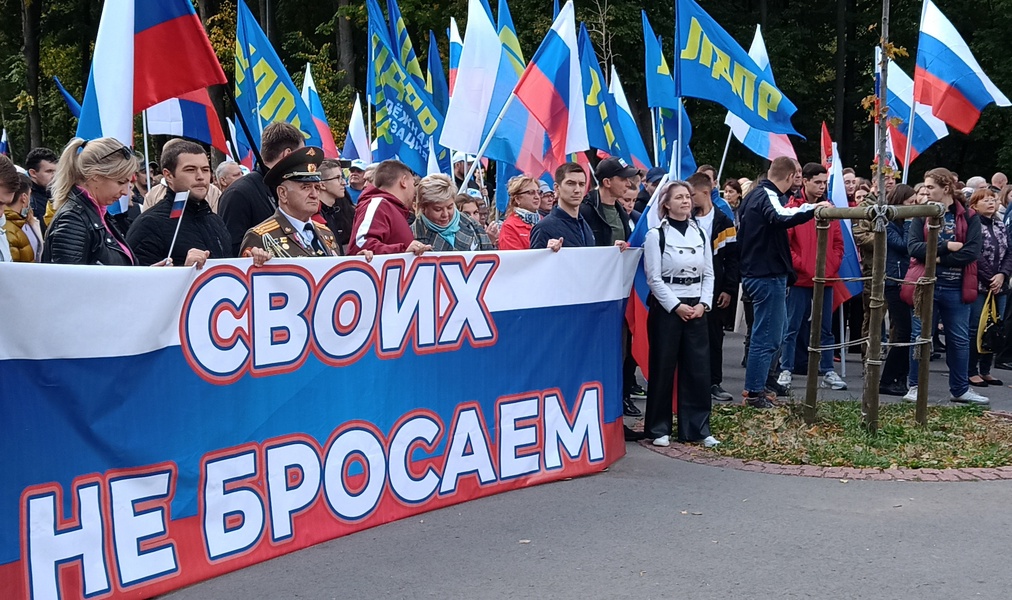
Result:
<svg viewBox="0 0 1012 600"><path fill-rule="evenodd" d="M752 298L755 313L749 362L745 368L745 391L761 393L766 389L773 355L783 343L787 321L787 276L744 277L742 286Z"/></svg>

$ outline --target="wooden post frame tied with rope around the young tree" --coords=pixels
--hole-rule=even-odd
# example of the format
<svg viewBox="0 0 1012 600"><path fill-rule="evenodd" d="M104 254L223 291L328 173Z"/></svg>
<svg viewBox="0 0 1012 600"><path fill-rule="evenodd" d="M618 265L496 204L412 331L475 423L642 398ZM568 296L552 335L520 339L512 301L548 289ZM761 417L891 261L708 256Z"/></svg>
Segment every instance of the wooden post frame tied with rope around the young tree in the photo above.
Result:
<svg viewBox="0 0 1012 600"><path fill-rule="evenodd" d="M924 277L914 283L917 285L916 308L921 323L931 323L931 313L934 304L935 262L938 252L939 220L945 208L941 204L928 203L916 206L892 206L875 204L857 206L854 208L819 207L816 208L816 232L818 247L816 255L816 273L813 281L815 287L812 294L812 327L809 338L809 374L805 394L805 422L814 424L818 414L819 396L819 353L828 347L822 346L822 328L816 323L822 319L823 295L826 290L826 253L829 246L830 221L850 219L872 222L874 233L874 253L871 268L871 278L865 281L869 285L871 295L868 318L868 348L864 360L864 394L861 398L861 414L868 431L878 430L878 382L881 379L881 324L886 311L886 225L895 219L912 219L922 217L928 219L927 253L925 256ZM836 281L841 279L830 279ZM904 283L907 284L907 283ZM918 371L917 412L919 425L927 425L928 415L928 358L930 357L931 336L924 337L926 330L922 327L921 337L916 340L917 351L920 352L920 370ZM925 348L928 350L925 351Z"/></svg>

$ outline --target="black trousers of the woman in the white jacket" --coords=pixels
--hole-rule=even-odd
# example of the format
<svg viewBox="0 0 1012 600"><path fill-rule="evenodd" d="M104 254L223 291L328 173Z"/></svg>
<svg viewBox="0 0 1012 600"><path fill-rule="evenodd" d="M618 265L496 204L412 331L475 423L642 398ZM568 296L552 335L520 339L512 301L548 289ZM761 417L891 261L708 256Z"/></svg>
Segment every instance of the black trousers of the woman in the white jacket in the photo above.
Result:
<svg viewBox="0 0 1012 600"><path fill-rule="evenodd" d="M652 304L647 317L650 387L647 389L644 434L650 439L671 435L671 398L677 368L678 440L699 441L709 435L709 334L706 318L682 321L674 312L668 313L660 305Z"/></svg>

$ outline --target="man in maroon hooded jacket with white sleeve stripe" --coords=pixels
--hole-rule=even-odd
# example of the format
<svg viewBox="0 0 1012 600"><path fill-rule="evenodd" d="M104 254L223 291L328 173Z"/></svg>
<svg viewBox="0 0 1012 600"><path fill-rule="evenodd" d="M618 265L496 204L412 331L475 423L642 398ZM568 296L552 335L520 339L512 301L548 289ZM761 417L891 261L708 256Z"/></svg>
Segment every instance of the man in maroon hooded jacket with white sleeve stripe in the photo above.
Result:
<svg viewBox="0 0 1012 600"><path fill-rule="evenodd" d="M388 160L376 166L372 185L358 196L348 254L370 250L374 254L412 252L421 256L432 247L415 240L415 175L408 165Z"/></svg>

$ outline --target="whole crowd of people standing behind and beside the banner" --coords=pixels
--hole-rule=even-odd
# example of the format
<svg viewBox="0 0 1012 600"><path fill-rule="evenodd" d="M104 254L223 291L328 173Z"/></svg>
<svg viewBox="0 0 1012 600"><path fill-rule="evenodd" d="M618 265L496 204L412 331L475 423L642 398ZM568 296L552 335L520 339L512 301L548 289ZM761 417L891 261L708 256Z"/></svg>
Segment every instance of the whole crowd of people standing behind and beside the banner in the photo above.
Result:
<svg viewBox="0 0 1012 600"><path fill-rule="evenodd" d="M774 406L789 394L793 376L807 373L811 327L819 328L823 346L845 341L834 332L838 319L848 324L849 340L868 335L867 291L844 302L839 285L827 285L822 314L812 314L815 208L830 205L828 172L819 163L803 166L781 157L755 179L723 185L709 165L681 181L613 157L593 169L566 163L551 183L530 175L511 178L500 212L482 168L465 184L475 158L462 153L452 157L452 175L419 177L396 160L325 160L321 149L305 146L296 127L277 122L264 128L260 155L262 165L251 171L231 161L213 171L201 146L172 139L158 163L145 164L130 148L102 138L74 139L59 156L34 149L23 168L0 156L0 261L199 269L208 259L233 257L250 257L259 266L272 258L313 256L371 260L375 254L589 246L623 251L637 224L655 210L660 226L644 243L652 382L646 391L638 383L626 328L622 384L625 415L645 419L644 432L627 436L662 446L672 435L720 443L710 434L709 411L712 402L734 399L724 389L724 340L739 301L748 329L742 396L756 409ZM879 392L916 399L917 359L903 344L925 331L933 338L932 358L945 353L950 400L988 404L973 388L1002 381L991 372L994 355L981 352L977 338L982 314L1006 310L1012 185L1001 173L990 184L983 177L962 183L944 168L928 171L913 187L888 177L883 190L848 168L844 184L852 206L875 203L881 194L890 204L945 207L929 324L912 310L912 286L903 285L923 272L927 224L888 224L892 344ZM839 222L831 224L829 278L839 276L847 235ZM862 272L870 275L874 234L866 222L855 221L852 235ZM863 354L864 346L856 351ZM832 349L821 353L822 387L846 390L835 367L844 358ZM646 415L635 403L642 398Z"/></svg>

